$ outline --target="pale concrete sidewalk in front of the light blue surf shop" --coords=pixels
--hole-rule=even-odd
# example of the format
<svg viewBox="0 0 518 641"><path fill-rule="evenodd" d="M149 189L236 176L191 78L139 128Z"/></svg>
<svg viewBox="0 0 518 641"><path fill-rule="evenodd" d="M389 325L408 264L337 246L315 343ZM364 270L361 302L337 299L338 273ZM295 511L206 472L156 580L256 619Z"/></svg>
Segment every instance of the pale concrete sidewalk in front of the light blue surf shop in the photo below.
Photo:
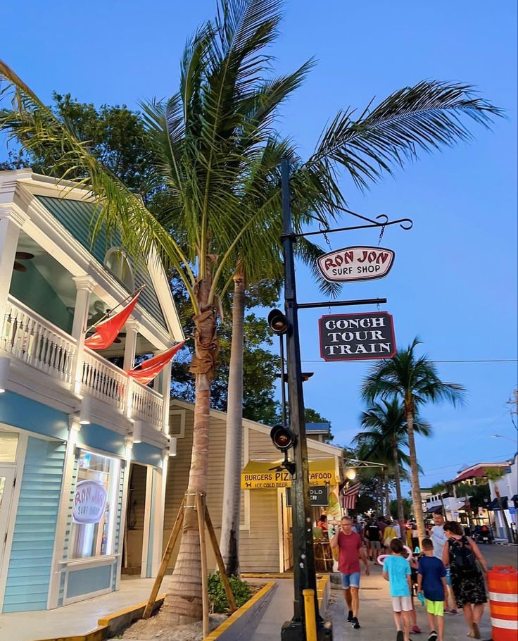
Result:
<svg viewBox="0 0 518 641"><path fill-rule="evenodd" d="M0 641L37 641L80 635L97 627L101 616L147 599L154 579L127 577L120 590L55 610L0 614Z"/></svg>

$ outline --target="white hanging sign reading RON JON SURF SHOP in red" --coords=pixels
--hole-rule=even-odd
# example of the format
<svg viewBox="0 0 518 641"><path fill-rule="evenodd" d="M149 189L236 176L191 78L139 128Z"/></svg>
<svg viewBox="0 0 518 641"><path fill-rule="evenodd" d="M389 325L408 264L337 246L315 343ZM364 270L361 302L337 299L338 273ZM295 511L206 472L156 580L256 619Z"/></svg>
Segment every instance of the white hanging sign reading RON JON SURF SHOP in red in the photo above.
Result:
<svg viewBox="0 0 518 641"><path fill-rule="evenodd" d="M330 282L351 282L382 278L394 262L392 249L384 247L344 247L318 259L318 268Z"/></svg>

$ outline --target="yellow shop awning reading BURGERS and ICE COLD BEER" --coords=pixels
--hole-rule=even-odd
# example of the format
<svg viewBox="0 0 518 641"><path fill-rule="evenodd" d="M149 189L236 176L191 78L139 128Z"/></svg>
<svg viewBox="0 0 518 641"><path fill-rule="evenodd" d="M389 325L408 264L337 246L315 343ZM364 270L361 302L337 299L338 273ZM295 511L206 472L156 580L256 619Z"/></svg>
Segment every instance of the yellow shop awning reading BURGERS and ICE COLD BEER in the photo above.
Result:
<svg viewBox="0 0 518 641"><path fill-rule="evenodd" d="M281 461L248 461L241 472L241 490L269 490L272 487L291 487L288 472ZM336 485L340 482L336 459L310 461L310 485Z"/></svg>

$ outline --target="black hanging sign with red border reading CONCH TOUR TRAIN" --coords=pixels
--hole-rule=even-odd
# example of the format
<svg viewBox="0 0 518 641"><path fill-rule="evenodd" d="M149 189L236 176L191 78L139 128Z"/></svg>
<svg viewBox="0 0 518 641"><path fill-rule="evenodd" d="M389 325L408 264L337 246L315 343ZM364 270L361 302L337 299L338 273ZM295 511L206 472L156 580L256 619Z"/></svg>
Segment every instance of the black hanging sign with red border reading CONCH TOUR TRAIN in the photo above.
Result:
<svg viewBox="0 0 518 641"><path fill-rule="evenodd" d="M391 359L396 354L392 316L386 311L331 314L318 325L324 361Z"/></svg>

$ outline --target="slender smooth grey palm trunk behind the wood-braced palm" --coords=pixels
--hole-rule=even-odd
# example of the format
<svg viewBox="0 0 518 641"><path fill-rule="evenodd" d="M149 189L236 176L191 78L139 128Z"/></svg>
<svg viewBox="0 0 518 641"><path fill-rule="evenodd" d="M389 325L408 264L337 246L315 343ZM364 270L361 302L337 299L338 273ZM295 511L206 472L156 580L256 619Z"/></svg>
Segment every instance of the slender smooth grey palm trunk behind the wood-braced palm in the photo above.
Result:
<svg viewBox="0 0 518 641"><path fill-rule="evenodd" d="M239 573L239 518L241 508L241 456L243 444L243 349L245 316L245 278L242 271L234 275L232 306L232 346L225 440L225 483L221 517L221 554L228 574Z"/></svg>

